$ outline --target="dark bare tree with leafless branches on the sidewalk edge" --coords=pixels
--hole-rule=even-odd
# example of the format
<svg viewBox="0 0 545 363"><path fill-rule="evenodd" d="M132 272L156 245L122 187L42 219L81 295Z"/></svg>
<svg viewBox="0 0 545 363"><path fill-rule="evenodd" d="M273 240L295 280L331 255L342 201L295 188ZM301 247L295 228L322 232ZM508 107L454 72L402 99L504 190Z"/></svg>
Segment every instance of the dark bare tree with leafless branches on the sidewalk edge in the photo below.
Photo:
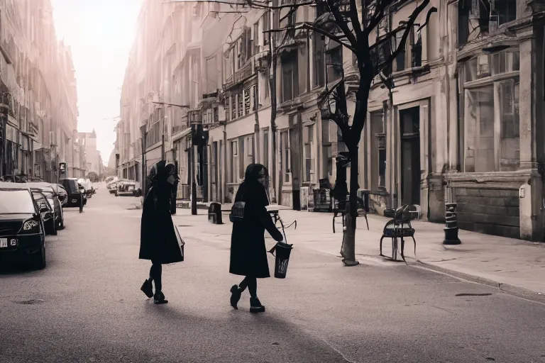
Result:
<svg viewBox="0 0 545 363"><path fill-rule="evenodd" d="M244 9L266 9L276 12L279 21L272 24L270 34L280 33L282 36L270 35L270 80L272 99L272 135L275 135L276 117L276 59L279 56L278 49L282 48L290 36L296 30L306 29L309 32L320 33L329 41L334 41L344 48L351 50L357 60L358 80L355 92L356 108L352 116L348 115L346 106L346 89L344 79L328 89L324 95L326 104L326 117L333 120L341 130L343 142L345 143L351 162L350 174L350 195L348 211L346 213L346 229L343 231L343 243L341 255L347 266L358 264L356 261L356 219L358 192L358 145L361 133L365 126L365 118L368 111L368 99L371 86L375 79L385 82L388 88L392 87L390 72L392 63L396 57L404 52L407 38L412 33L414 26L419 26L418 31L424 28L432 13L436 12L435 7L429 7L429 0L422 0L405 21L400 21L397 27L387 29L385 34L376 38L370 43L371 35L379 27L380 23L390 16L390 9L403 5L409 0L193 0L191 2L216 2L229 4L236 11ZM184 1L189 2L189 1ZM319 7L321 16L312 22L285 21L293 18L297 10L303 6ZM427 9L426 21L416 24L417 18ZM287 23L281 27L281 23ZM275 28L276 27L276 28ZM399 35L401 37L399 38ZM399 39L399 41L397 41ZM279 40L275 43L275 40ZM385 49L389 51L385 52ZM335 110L331 110L331 104ZM274 143L274 139L273 139ZM274 160L273 160L274 162ZM273 180L274 182L274 180Z"/></svg>

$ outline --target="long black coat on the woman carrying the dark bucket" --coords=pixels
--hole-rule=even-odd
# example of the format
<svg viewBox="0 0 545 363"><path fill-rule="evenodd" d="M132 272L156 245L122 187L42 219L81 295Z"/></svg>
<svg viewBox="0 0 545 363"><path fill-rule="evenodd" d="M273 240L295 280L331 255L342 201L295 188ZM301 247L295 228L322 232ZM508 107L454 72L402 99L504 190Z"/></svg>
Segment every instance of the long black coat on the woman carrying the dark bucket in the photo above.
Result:
<svg viewBox="0 0 545 363"><path fill-rule="evenodd" d="M270 277L265 229L277 241L283 237L265 208L269 203L265 187L257 182L249 184L244 181L235 201L245 201L246 207L243 221L233 223L229 272L256 278Z"/></svg>

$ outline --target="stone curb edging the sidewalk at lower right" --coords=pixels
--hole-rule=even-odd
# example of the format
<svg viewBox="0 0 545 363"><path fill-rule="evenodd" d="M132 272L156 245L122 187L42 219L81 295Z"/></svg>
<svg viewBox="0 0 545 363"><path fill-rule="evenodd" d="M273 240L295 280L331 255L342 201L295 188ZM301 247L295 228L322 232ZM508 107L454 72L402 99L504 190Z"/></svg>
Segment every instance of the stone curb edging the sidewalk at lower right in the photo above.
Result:
<svg viewBox="0 0 545 363"><path fill-rule="evenodd" d="M410 265L409 265L410 266ZM412 265L415 266L415 265ZM481 284L485 286L490 286L494 289L501 290L507 294L511 294L514 296L519 296L522 298L526 298L530 301L534 301L536 303L545 303L545 294L532 291L529 289L525 289L524 287L514 286L511 284L504 284L502 282L493 281L490 279L485 279L484 277L478 277L471 274L466 274L464 272L458 272L453 269L446 269L444 267L439 267L434 264L429 264L427 262L421 262L418 261L416 264L417 267L430 269L435 272L440 272L441 274L446 274L451 277L456 277L458 279L463 279L467 281L474 282L475 284Z"/></svg>

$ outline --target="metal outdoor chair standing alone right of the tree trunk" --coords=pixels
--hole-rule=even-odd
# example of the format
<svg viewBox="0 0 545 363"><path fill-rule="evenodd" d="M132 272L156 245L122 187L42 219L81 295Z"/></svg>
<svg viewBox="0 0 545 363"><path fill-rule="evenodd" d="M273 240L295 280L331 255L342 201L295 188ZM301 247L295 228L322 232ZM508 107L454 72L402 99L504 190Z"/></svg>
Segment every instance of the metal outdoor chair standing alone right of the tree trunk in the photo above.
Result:
<svg viewBox="0 0 545 363"><path fill-rule="evenodd" d="M417 240L414 239L414 228L411 225L411 211L409 205L406 204L395 211L394 218L389 220L384 226L382 237L380 238L380 256L382 255L382 240L384 238L392 239L392 260L397 261L397 239L401 240L401 258L405 261L404 247L405 238L412 238L414 241L414 258L417 258ZM418 261L418 259L417 259Z"/></svg>

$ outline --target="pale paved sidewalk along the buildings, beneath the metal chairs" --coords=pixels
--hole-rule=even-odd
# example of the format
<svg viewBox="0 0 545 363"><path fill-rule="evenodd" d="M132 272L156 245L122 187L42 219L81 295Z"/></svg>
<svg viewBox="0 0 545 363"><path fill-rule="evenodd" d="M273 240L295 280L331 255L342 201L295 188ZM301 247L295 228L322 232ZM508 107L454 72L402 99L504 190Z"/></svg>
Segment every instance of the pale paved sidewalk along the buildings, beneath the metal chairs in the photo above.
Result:
<svg viewBox="0 0 545 363"><path fill-rule="evenodd" d="M336 223L334 234L331 213L281 209L280 216L285 221L285 225L297 220L297 229L292 226L286 230L289 243L329 255L339 255L342 240L341 218L336 218L338 223ZM186 213L188 213L187 210L180 210L180 215ZM206 222L205 212L199 211L199 214L202 215L199 219L202 218L202 222ZM388 260L379 255L379 241L382 228L389 218L369 215L368 220L370 230L367 230L365 218L358 218L356 258L364 264L382 264ZM224 223L225 233L230 233L231 223L225 213ZM532 243L460 230L458 237L462 244L448 246L443 245L443 224L417 220L413 221L412 226L416 230L414 238L417 240L417 257L420 263L414 259L414 244L409 239L405 243L405 257L409 265L446 272L456 277L545 301L545 243ZM385 238L382 241L384 255L391 256L391 245L390 239ZM398 256L398 258L401 257Z"/></svg>

